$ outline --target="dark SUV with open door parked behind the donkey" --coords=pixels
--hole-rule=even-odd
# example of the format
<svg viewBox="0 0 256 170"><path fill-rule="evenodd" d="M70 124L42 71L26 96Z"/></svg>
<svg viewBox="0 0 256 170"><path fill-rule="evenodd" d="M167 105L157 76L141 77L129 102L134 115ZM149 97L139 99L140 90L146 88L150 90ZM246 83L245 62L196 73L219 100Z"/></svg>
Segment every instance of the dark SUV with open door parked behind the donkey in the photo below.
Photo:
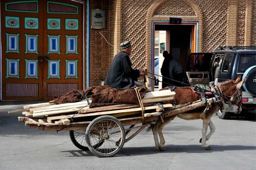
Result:
<svg viewBox="0 0 256 170"><path fill-rule="evenodd" d="M224 46L212 53L191 53L186 65L186 75L191 85L216 85L229 79L248 76L242 87L242 109L256 109L256 47ZM232 112L218 112L221 119L230 118Z"/></svg>

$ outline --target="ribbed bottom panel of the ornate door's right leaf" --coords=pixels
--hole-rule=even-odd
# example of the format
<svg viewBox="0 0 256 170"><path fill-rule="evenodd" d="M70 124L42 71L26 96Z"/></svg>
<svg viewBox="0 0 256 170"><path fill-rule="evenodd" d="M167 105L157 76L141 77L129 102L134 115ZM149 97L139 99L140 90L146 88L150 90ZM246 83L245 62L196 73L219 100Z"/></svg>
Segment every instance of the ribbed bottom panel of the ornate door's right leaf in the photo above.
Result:
<svg viewBox="0 0 256 170"><path fill-rule="evenodd" d="M59 96L71 90L76 90L77 83L51 83L47 84L47 96Z"/></svg>

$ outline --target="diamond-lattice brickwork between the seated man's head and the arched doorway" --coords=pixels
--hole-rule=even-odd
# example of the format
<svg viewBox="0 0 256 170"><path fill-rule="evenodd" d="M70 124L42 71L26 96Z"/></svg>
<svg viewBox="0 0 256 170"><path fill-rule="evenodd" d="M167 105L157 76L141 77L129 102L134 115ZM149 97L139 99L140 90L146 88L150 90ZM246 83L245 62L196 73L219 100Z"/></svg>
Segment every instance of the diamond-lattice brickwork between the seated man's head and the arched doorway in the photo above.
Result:
<svg viewBox="0 0 256 170"><path fill-rule="evenodd" d="M146 15L152 0L122 1L121 40L131 40L131 62L135 68L146 66Z"/></svg>

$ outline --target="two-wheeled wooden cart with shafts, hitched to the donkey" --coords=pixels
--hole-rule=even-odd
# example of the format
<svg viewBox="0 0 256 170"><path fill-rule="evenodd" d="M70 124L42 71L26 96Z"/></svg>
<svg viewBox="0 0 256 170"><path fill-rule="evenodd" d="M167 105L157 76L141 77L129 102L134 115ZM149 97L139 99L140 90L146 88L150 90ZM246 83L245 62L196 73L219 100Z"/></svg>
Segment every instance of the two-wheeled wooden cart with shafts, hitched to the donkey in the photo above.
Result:
<svg viewBox="0 0 256 170"><path fill-rule="evenodd" d="M208 102L216 102L216 99L208 99ZM164 121L166 117L202 106L204 104L201 100L176 106L150 103L142 107L141 105L120 104L79 110L76 108L74 109L76 112L72 114L47 115L41 118L29 115L28 109L38 108L33 106L24 107L26 111L23 111L23 114L27 117L18 119L25 122L26 126L41 130L70 130L71 141L79 149L90 150L98 157L111 157L121 150L125 142L140 133L147 124ZM128 127L124 128L125 126ZM136 132L128 137L128 133L132 130Z"/></svg>

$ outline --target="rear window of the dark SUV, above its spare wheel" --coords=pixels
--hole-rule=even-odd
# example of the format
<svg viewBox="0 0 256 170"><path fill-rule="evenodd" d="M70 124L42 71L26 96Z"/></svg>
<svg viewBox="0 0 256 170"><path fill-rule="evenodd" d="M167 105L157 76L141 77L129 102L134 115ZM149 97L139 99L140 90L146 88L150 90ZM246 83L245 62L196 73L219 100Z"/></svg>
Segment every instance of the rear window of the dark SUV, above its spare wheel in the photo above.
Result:
<svg viewBox="0 0 256 170"><path fill-rule="evenodd" d="M255 54L242 54L239 58L237 73L244 73L249 67L256 65Z"/></svg>

